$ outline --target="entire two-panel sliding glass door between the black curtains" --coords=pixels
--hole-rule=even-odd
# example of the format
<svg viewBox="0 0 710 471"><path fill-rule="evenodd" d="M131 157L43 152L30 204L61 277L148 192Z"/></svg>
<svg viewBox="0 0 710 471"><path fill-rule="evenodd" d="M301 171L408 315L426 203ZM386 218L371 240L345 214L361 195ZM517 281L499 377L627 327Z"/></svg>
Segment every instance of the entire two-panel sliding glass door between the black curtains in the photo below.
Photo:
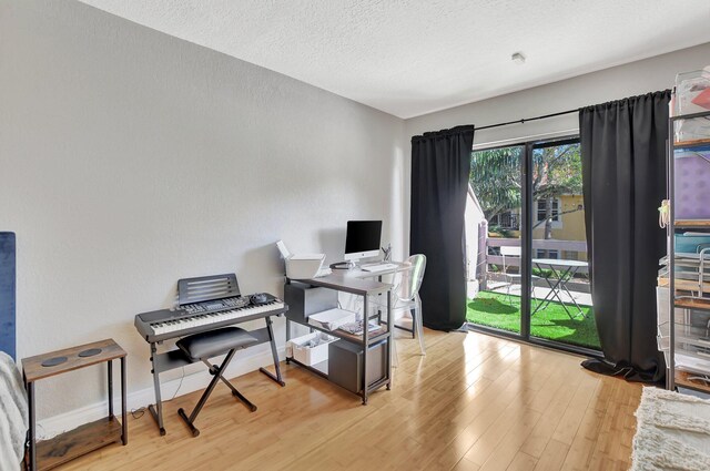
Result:
<svg viewBox="0 0 710 471"><path fill-rule="evenodd" d="M578 139L471 155L467 319L525 340L599 350ZM469 240L471 239L468 236Z"/></svg>

